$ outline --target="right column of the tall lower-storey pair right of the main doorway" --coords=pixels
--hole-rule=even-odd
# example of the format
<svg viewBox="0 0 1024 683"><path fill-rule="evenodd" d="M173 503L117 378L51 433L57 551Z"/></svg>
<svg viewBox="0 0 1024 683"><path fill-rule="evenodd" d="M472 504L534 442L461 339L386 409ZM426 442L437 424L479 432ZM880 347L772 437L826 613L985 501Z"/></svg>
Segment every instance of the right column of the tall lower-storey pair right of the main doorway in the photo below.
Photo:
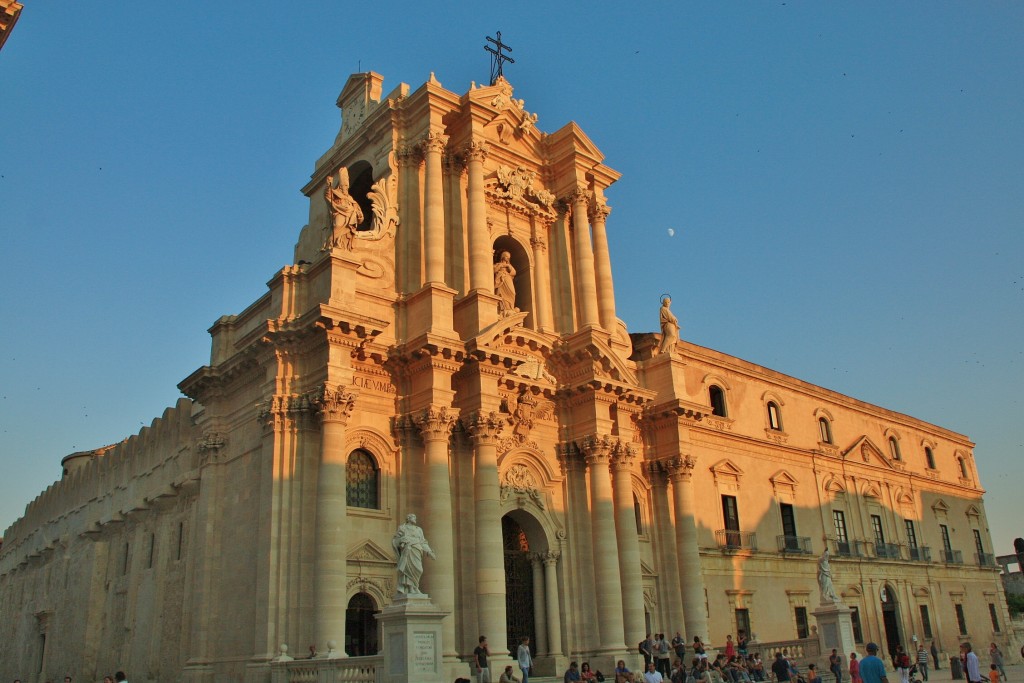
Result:
<svg viewBox="0 0 1024 683"><path fill-rule="evenodd" d="M640 575L640 540L633 507L633 460L636 454L620 441L611 450L615 538L618 540L618 575L623 584L623 623L630 642L646 633L643 615L643 580Z"/></svg>

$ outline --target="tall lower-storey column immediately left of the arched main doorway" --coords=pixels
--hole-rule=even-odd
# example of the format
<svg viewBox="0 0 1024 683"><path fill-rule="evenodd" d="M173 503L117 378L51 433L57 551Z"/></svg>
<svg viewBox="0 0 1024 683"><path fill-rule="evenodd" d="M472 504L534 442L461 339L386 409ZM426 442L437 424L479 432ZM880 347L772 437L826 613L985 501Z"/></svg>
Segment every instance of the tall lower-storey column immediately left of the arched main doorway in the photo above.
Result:
<svg viewBox="0 0 1024 683"><path fill-rule="evenodd" d="M507 655L505 549L502 542L501 488L498 481L498 437L506 420L498 413L478 412L463 421L473 439L475 513L474 564L479 631L487 636L495 657Z"/></svg>

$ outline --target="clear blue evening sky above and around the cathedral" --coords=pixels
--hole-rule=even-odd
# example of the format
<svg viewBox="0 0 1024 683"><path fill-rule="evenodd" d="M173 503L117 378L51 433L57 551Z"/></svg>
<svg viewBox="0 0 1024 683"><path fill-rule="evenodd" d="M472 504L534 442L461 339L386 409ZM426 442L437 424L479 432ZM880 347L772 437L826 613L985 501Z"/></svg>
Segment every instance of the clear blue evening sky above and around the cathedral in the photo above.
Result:
<svg viewBox="0 0 1024 683"><path fill-rule="evenodd" d="M501 31L538 127L577 121L624 174L631 331L671 292L684 339L967 434L995 552L1024 536L1024 5L27 5L0 51L0 527L173 404L291 261L350 73L463 92Z"/></svg>

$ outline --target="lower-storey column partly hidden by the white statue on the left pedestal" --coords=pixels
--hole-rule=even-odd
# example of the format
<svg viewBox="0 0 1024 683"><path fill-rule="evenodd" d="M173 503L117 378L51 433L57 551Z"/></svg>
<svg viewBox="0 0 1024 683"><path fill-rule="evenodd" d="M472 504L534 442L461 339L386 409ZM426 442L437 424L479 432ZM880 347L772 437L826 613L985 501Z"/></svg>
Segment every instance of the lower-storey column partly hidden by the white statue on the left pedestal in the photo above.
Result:
<svg viewBox="0 0 1024 683"><path fill-rule="evenodd" d="M441 623L445 656L454 655L455 641L455 543L452 528L452 475L449 469L449 438L458 413L431 405L415 417L423 437L426 488L423 519L427 542L437 556L424 568L423 579L434 604L449 612Z"/></svg>

